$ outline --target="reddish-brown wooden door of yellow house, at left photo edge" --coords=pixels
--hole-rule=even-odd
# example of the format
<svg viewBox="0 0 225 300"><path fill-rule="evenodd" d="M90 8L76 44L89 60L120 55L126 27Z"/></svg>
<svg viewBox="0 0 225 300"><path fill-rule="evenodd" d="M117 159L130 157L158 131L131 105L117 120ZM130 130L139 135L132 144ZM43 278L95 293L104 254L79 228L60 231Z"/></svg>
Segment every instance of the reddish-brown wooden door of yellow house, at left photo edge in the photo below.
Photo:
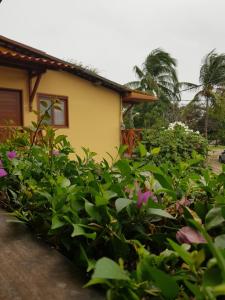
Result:
<svg viewBox="0 0 225 300"><path fill-rule="evenodd" d="M23 125L21 92L0 89L0 126Z"/></svg>

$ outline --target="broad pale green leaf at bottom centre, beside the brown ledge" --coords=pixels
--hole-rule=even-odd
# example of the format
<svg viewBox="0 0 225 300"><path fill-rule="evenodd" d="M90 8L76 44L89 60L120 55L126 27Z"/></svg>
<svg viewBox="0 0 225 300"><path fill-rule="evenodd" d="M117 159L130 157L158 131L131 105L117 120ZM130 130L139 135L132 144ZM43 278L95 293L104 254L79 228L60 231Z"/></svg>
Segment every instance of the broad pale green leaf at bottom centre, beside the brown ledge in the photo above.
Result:
<svg viewBox="0 0 225 300"><path fill-rule="evenodd" d="M114 279L114 280L130 280L124 270L113 260L103 257L100 258L96 265L92 279Z"/></svg>

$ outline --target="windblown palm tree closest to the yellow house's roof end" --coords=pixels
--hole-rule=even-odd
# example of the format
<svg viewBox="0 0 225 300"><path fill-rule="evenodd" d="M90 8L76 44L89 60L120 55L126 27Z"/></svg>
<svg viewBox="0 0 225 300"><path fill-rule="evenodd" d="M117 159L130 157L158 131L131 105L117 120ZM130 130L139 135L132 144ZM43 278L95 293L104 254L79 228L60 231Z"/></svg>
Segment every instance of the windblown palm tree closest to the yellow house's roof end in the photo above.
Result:
<svg viewBox="0 0 225 300"><path fill-rule="evenodd" d="M154 94L158 100L155 104L143 104L142 123L146 115L148 118L149 111L160 109L161 115L168 115L176 118L175 110L180 100L179 85L176 73L176 60L164 50L154 49L145 59L142 67L134 66L134 72L137 76L136 81L129 82L130 88ZM169 109L168 109L169 108ZM130 111L130 116L132 110ZM144 122L145 123L145 122ZM143 125L143 124L142 124Z"/></svg>

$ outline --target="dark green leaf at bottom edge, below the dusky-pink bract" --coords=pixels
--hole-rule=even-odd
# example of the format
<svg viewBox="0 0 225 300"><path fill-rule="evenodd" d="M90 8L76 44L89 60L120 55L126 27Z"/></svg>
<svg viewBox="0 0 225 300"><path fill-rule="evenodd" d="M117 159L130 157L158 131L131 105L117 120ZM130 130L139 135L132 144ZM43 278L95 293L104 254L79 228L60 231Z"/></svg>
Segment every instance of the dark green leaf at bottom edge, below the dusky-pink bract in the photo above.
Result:
<svg viewBox="0 0 225 300"><path fill-rule="evenodd" d="M156 286L160 288L163 296L165 296L166 299L176 299L179 292L179 286L174 278L171 275L151 266L149 266L149 271Z"/></svg>

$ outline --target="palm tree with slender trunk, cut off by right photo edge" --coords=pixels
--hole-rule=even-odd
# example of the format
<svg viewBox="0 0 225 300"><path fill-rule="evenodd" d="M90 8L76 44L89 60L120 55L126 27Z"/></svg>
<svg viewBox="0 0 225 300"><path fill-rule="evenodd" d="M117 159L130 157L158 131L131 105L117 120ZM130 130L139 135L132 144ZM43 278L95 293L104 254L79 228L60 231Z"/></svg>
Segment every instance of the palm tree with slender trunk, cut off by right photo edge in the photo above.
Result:
<svg viewBox="0 0 225 300"><path fill-rule="evenodd" d="M185 87L185 90L196 90L192 102L205 103L204 133L207 138L209 108L216 103L218 93L223 93L225 89L225 53L217 54L212 50L203 58L198 85L187 82L180 85Z"/></svg>

